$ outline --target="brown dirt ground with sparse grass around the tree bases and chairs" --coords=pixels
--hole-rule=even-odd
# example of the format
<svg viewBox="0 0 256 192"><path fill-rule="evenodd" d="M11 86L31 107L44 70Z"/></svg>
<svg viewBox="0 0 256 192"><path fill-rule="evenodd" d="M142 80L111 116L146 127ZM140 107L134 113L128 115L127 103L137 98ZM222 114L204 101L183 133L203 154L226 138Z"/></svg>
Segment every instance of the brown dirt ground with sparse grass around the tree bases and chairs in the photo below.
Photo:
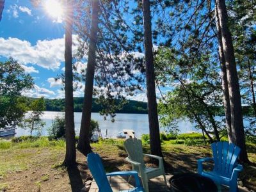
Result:
<svg viewBox="0 0 256 192"><path fill-rule="evenodd" d="M127 154L122 145L93 145L93 151L102 157L106 172L131 170L130 164L124 161ZM190 148L188 152L187 147L182 147L182 145L164 146L163 151L165 171L172 175L196 172L196 160L210 156L210 150L207 147L193 147L193 150ZM81 191L84 187L84 180L90 174L86 165L86 157L80 152L77 152L77 166L70 169L60 166L65 157L64 148L26 148L14 153L15 158L19 158L20 164L15 167L15 164L10 162L9 172L0 176L2 191ZM11 158L10 152L2 150L0 154L0 160L8 164L8 159ZM256 178L255 167L250 166L246 170L252 170L250 174L254 179ZM241 175L241 177L244 176ZM254 181L253 179L251 183L244 181L243 184L253 189L255 188Z"/></svg>

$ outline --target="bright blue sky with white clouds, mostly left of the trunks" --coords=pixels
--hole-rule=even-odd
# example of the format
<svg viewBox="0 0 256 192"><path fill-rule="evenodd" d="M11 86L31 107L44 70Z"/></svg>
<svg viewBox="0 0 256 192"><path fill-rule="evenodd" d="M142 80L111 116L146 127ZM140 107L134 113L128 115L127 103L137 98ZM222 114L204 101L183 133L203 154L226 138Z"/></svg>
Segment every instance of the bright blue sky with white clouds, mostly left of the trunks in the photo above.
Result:
<svg viewBox="0 0 256 192"><path fill-rule="evenodd" d="M44 6L47 1L56 0L42 0L37 8L29 0L5 1L0 22L0 61L12 56L35 79L35 88L24 95L63 98L61 81L54 81L54 77L64 67L64 22L47 12ZM76 42L76 35L73 41ZM73 49L76 50L76 45ZM75 65L86 67L86 63ZM83 97L84 84L79 85L74 97ZM127 99L147 101L147 96L144 90Z"/></svg>

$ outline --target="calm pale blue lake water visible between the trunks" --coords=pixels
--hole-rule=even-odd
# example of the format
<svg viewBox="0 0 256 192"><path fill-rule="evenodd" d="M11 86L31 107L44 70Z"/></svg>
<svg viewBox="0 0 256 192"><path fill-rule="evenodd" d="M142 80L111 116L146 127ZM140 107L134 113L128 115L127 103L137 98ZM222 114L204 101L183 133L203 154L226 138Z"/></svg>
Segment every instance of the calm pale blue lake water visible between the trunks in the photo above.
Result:
<svg viewBox="0 0 256 192"><path fill-rule="evenodd" d="M45 111L42 116L42 120L45 122L45 127L42 130L42 135L47 136L49 127L51 127L52 120L57 115L61 115L61 112ZM81 115L82 113L75 113L75 129L76 135L79 135L80 125L81 125ZM116 138L118 132L123 131L123 129L133 129L135 131L135 136L137 138L141 137L141 134L149 133L148 128L148 115L147 114L126 114L126 113L117 113L115 116L115 122L111 122L111 118L107 117L107 120L104 120L103 116L100 116L99 113L92 113L92 119L99 122L99 127L102 132L102 136L106 134L106 129L108 129L108 136L110 138ZM180 133L196 131L195 127L189 121L180 121L178 124ZM164 131L161 129L161 131ZM15 136L29 135L28 130L20 129L17 127L17 134ZM36 134L36 131L33 132L33 135Z"/></svg>

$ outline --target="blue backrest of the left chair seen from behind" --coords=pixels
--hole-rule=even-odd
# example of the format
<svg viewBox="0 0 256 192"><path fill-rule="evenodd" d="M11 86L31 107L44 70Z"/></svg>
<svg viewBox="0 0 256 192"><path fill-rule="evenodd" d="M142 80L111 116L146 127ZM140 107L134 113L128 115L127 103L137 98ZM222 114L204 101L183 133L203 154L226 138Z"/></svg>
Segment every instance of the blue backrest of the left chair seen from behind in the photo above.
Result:
<svg viewBox="0 0 256 192"><path fill-rule="evenodd" d="M90 172L92 173L92 176L99 187L99 191L112 192L100 156L95 153L88 154L87 163Z"/></svg>

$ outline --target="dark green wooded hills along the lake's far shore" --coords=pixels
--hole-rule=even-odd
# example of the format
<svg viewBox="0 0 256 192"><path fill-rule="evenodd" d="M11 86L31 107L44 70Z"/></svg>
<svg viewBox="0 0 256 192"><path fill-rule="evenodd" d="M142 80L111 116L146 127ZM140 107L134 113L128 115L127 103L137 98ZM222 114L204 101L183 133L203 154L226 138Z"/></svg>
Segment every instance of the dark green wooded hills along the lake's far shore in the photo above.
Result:
<svg viewBox="0 0 256 192"><path fill-rule="evenodd" d="M28 98L29 102L32 102L36 98ZM45 100L45 111L64 111L65 99L44 99ZM116 105L120 103L120 100L116 99ZM217 110L216 116L225 116L223 107L212 106ZM74 112L82 112L83 109L83 97L74 97ZM97 100L93 98L92 102L92 113L99 113L103 106L97 103ZM253 106L242 106L243 116L254 116ZM116 113L134 113L134 114L148 114L147 102L141 102L137 100L127 100L126 104L121 109L116 110Z"/></svg>

